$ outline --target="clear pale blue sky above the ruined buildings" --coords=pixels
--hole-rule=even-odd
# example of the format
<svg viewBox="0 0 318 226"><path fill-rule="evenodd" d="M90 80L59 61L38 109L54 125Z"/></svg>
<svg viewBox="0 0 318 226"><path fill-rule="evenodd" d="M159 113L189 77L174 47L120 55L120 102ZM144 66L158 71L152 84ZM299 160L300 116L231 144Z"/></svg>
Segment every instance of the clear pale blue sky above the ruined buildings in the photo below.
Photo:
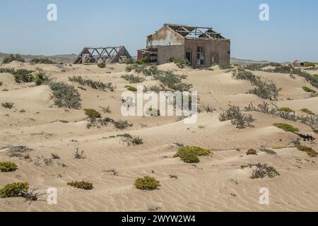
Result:
<svg viewBox="0 0 318 226"><path fill-rule="evenodd" d="M57 4L57 21L47 5ZM269 4L270 20L259 20ZM125 45L131 55L163 23L212 26L231 40L231 57L318 61L318 1L1 0L0 52L78 54L84 46Z"/></svg>

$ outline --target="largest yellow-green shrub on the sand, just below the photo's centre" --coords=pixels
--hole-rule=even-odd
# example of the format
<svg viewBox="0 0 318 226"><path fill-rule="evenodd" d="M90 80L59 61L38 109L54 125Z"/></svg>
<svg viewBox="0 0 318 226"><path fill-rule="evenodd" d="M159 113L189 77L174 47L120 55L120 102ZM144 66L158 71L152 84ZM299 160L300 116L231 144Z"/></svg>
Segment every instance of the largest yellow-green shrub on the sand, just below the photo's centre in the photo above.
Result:
<svg viewBox="0 0 318 226"><path fill-rule="evenodd" d="M199 147L180 147L173 157L180 157L181 160L187 163L199 162L198 156L209 155L210 150Z"/></svg>

